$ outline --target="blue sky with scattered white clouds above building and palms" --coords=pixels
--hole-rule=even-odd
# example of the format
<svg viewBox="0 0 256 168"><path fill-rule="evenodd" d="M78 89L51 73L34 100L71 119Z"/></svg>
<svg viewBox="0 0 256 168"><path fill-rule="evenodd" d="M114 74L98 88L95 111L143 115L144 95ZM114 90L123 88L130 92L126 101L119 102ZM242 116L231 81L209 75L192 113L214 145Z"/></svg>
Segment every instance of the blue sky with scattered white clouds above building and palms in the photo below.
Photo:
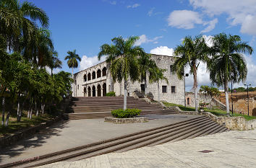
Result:
<svg viewBox="0 0 256 168"><path fill-rule="evenodd" d="M138 45L147 53L168 54L186 35L216 35L226 32L240 35L255 48L255 0L28 0L43 9L50 18L55 49L67 67L68 50L77 50L80 67L88 68L98 60L99 48L116 36L140 36ZM256 58L246 56L247 82L256 87ZM59 71L59 70L56 70ZM199 85L210 84L205 66L199 69ZM237 84L239 86L241 84ZM187 87L192 86L192 76Z"/></svg>

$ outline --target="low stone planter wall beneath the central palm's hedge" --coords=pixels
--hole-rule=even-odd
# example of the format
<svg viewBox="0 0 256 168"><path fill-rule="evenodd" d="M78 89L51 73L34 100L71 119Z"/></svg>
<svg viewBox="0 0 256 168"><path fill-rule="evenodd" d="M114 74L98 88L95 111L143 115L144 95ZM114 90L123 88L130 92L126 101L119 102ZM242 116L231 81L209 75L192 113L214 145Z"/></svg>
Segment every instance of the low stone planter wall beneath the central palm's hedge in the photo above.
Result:
<svg viewBox="0 0 256 168"><path fill-rule="evenodd" d="M145 123L148 118L105 118L105 122L124 124L124 123Z"/></svg>

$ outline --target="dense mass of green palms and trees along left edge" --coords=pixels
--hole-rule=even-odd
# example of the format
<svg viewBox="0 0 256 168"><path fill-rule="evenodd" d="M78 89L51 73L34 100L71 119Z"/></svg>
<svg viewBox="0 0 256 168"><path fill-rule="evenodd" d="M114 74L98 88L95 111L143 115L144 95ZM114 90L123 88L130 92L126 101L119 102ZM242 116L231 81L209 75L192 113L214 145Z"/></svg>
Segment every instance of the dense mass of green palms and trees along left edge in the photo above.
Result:
<svg viewBox="0 0 256 168"><path fill-rule="evenodd" d="M0 1L1 125L9 125L13 109L22 122L24 110L30 119L45 109L51 113L72 93L71 74L53 74L54 68L61 68L61 61L47 27L46 12L33 3Z"/></svg>

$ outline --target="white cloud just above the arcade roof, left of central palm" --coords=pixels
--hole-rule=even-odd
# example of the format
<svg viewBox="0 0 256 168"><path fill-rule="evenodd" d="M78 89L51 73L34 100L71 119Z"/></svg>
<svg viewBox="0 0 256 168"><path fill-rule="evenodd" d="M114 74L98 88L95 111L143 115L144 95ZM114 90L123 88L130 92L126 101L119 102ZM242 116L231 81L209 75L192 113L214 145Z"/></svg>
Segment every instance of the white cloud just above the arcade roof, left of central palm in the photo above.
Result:
<svg viewBox="0 0 256 168"><path fill-rule="evenodd" d="M80 71L90 68L91 66L94 66L98 63L102 63L106 60L106 56L103 56L101 58L101 61L98 61L98 56L88 57L88 56L82 56L81 62L80 62Z"/></svg>

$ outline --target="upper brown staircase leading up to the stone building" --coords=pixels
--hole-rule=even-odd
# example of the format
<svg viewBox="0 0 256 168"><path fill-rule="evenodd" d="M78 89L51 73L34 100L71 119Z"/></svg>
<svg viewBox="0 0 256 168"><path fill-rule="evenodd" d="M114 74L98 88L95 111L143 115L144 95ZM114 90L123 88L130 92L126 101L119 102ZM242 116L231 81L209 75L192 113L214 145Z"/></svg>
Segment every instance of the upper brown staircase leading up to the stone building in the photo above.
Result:
<svg viewBox="0 0 256 168"><path fill-rule="evenodd" d="M92 119L111 117L111 110L123 108L124 97L74 97L72 100L71 113L65 113L68 120ZM163 110L160 105L150 105L145 100L127 97L127 108L142 110L141 115L176 114L175 110Z"/></svg>

